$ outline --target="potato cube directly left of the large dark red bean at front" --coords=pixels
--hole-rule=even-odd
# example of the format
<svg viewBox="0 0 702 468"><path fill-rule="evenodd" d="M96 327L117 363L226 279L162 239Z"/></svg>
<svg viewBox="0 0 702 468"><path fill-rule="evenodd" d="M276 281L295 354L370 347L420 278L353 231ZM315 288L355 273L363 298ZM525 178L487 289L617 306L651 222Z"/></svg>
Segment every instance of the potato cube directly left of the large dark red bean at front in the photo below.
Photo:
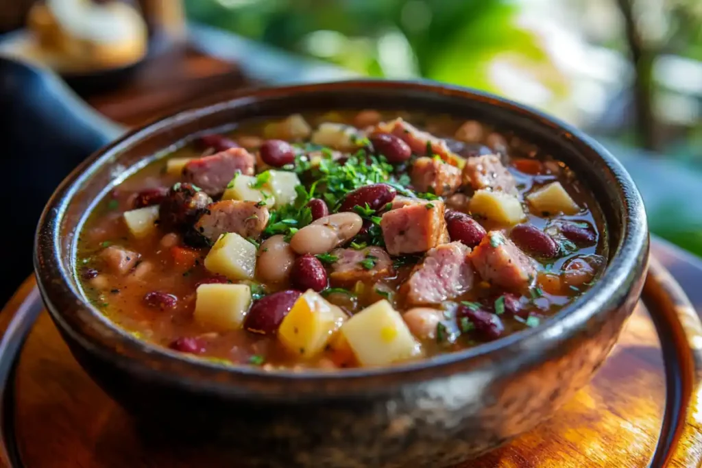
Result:
<svg viewBox="0 0 702 468"><path fill-rule="evenodd" d="M251 288L246 284L201 284L197 287L197 323L219 331L237 330L251 305Z"/></svg>

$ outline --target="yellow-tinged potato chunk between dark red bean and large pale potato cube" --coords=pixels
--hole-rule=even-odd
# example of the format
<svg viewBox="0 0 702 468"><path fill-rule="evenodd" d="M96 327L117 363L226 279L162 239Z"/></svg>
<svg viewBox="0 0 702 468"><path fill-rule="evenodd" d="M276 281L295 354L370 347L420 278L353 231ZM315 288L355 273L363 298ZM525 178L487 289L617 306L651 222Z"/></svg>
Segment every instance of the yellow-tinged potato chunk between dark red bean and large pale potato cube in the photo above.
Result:
<svg viewBox="0 0 702 468"><path fill-rule="evenodd" d="M278 338L291 352L310 359L324 349L346 314L324 297L307 290L295 301L278 328Z"/></svg>

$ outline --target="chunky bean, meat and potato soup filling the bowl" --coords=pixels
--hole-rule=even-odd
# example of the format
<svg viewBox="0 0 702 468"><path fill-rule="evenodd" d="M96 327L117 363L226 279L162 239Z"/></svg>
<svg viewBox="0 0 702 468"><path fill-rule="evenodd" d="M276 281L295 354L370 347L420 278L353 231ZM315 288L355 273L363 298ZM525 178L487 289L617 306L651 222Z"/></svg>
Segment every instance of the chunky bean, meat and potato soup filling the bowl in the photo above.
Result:
<svg viewBox="0 0 702 468"><path fill-rule="evenodd" d="M557 156L448 116L251 121L112 190L77 275L112 321L203 359L337 369L453 352L538 326L604 269L602 215Z"/></svg>

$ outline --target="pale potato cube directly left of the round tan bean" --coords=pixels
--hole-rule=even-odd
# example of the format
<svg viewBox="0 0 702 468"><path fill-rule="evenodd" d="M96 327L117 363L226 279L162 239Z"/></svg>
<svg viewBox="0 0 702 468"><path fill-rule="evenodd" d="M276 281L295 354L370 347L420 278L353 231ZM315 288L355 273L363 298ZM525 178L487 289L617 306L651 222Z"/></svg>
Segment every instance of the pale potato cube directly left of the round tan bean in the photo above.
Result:
<svg viewBox="0 0 702 468"><path fill-rule="evenodd" d="M253 279L256 247L235 232L222 234L205 257L205 268L232 281Z"/></svg>

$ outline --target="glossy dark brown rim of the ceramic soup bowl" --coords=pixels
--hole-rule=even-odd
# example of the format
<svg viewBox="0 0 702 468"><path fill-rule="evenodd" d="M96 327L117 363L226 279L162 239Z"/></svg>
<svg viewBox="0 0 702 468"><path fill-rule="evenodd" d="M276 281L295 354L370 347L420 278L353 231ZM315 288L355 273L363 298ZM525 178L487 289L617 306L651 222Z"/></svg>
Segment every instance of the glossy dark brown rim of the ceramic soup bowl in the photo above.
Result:
<svg viewBox="0 0 702 468"><path fill-rule="evenodd" d="M197 119L218 112L218 110L242 107L277 98L292 98L296 95L316 95L349 91L350 89L357 89L359 92L364 90L377 92L391 88L394 92L400 88L402 91L427 95L449 95L467 102L478 100L487 105L501 107L505 111L521 114L528 119L536 119L541 124L552 128L553 131L559 132L561 138L596 154L614 175L618 184L623 220L621 239L618 245L609 246L611 260L597 283L557 314L545 319L539 326L512 333L494 342L418 361L398 363L394 366L349 368L335 372L321 370L267 371L255 366L222 365L174 352L133 337L93 307L79 290L70 286L68 277L73 277L74 272L67 271L63 261L58 256L59 227L62 216L69 206L69 201L77 194L81 184L89 180L91 168L102 166L114 155L120 154L123 149L128 149L133 143L152 133L181 121L197 121ZM572 335L576 330L581 330L590 319L597 316L598 311L611 309L614 306L618 307L623 303L630 289L627 285L634 281L630 277L632 272L640 270L643 274L645 271L648 237L642 197L630 175L600 143L568 123L529 106L470 88L427 81L353 79L328 83L254 88L237 91L230 95L221 95L220 100L214 104L186 109L156 119L99 149L61 182L51 199L46 203L35 235L34 269L39 290L55 323L72 340L79 342L82 347L101 356L102 359L112 361L117 366L128 368L134 373L149 373L155 379L168 382L170 385L197 387L216 393L247 394L255 391L263 392L264 395L272 394L294 398L304 394L316 394L319 389L324 389L326 394L330 396L373 390L383 391L388 389L388 385L392 386L399 381L422 382L437 377L437 375L449 377L456 372L463 372L470 368L476 369L480 364L501 361L510 356L516 357L525 350L534 348L539 342L550 342L550 347L553 347L560 341L559 337L567 338L569 334ZM58 281L56 274L58 274ZM84 311L88 311L90 319L80 319L79 314L66 314L62 307L67 305L81 307ZM88 323L95 320L107 323L113 332L117 331L117 338L106 340L104 336L95 333L95 330L90 328L90 323ZM116 352L116 349L119 349L119 352ZM297 382L297 385L294 387L280 386L279 384L282 382L288 384ZM272 386L272 383L277 387ZM303 383L304 387L300 385Z"/></svg>

